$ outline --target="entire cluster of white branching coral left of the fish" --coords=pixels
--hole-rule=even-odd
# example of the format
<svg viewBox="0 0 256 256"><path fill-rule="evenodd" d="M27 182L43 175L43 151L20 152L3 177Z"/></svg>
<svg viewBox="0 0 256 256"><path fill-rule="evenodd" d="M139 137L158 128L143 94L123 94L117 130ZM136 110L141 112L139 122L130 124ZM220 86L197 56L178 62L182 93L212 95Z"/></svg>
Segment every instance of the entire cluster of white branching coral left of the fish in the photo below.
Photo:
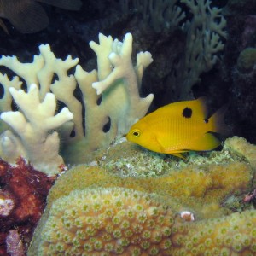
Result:
<svg viewBox="0 0 256 256"><path fill-rule="evenodd" d="M153 95L141 98L139 88L143 70L153 61L150 53L138 53L133 66L130 33L124 42L100 34L99 44L90 42L90 47L96 52L98 66L90 73L77 65L78 58L56 58L48 44L39 47L40 54L32 63L21 63L15 56L0 59L0 66L17 74L9 80L0 73L4 89L0 126L4 121L4 128L6 124L10 127L0 137L3 160L15 162L22 155L40 171L53 175L63 163L61 156L66 163L86 162L87 154L108 146L147 113ZM75 73L68 74L73 67ZM74 96L77 86L81 100ZM12 99L18 111L12 111ZM56 101L67 107L56 113Z"/></svg>

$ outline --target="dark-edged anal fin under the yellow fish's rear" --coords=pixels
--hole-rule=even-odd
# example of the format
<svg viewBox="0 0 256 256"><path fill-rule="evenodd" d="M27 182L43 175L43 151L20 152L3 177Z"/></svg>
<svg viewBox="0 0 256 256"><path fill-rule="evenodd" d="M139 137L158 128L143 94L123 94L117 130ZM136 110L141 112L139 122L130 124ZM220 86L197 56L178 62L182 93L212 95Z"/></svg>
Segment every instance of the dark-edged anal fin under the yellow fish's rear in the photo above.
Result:
<svg viewBox="0 0 256 256"><path fill-rule="evenodd" d="M188 144L189 150L207 151L217 148L220 141L212 133L205 133L201 137L191 140Z"/></svg>

